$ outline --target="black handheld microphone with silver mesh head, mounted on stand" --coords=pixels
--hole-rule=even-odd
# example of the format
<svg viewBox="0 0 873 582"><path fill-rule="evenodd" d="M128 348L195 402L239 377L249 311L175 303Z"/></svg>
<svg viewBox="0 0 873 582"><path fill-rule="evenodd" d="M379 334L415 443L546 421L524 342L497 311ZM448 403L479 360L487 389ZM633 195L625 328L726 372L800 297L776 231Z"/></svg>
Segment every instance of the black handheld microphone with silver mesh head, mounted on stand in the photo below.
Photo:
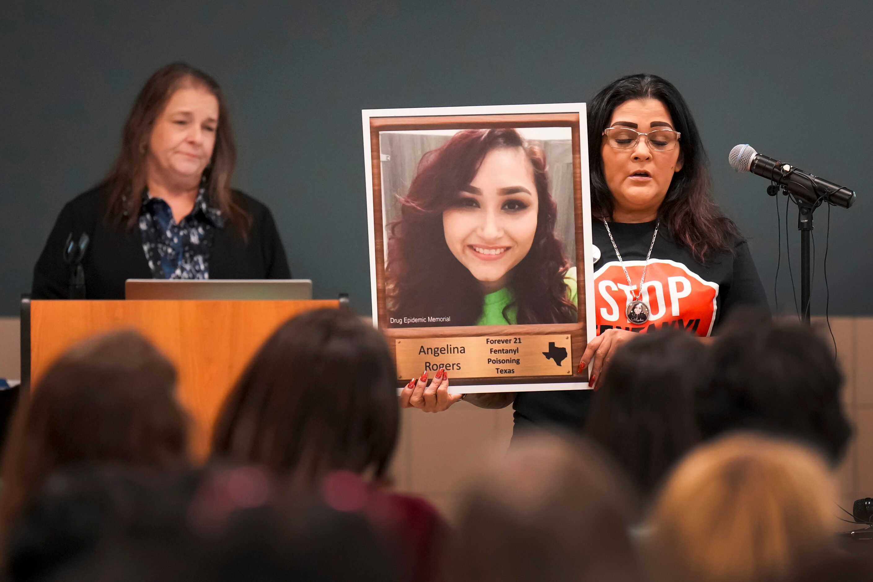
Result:
<svg viewBox="0 0 873 582"><path fill-rule="evenodd" d="M853 190L761 155L747 143L734 146L727 156L727 163L738 172L752 172L774 181L809 204L815 205L824 199L835 206L848 209L855 202Z"/></svg>

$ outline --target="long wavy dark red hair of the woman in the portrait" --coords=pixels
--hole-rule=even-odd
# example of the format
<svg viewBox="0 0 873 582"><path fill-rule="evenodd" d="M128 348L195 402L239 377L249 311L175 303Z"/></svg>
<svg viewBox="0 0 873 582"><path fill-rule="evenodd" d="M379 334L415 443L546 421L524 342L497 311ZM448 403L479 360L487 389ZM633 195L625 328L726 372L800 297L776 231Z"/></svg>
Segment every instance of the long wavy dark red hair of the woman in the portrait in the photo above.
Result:
<svg viewBox="0 0 873 582"><path fill-rule="evenodd" d="M485 154L520 147L533 166L540 202L533 246L512 270L510 287L519 324L574 323L564 274L570 264L554 234L558 205L549 190L546 155L514 129L468 129L424 154L401 201L401 217L388 225L388 311L395 316L450 317L452 325L474 325L484 294L445 242L443 211L476 177ZM508 307L507 307L508 309Z"/></svg>

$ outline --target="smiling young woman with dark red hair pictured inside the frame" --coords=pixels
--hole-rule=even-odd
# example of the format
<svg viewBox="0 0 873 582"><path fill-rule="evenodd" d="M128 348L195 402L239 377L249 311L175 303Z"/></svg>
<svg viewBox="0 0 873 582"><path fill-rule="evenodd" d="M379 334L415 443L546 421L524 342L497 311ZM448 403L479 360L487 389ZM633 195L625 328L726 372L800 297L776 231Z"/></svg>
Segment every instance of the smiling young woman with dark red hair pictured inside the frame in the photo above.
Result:
<svg viewBox="0 0 873 582"><path fill-rule="evenodd" d="M577 321L546 154L519 130L457 131L423 154L398 202L386 225L389 326Z"/></svg>

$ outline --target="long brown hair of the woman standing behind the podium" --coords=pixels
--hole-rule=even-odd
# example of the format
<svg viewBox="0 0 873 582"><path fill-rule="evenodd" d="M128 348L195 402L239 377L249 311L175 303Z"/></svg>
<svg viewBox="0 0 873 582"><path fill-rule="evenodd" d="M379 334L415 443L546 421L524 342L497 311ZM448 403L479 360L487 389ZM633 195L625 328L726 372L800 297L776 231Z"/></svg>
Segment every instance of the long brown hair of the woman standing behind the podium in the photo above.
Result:
<svg viewBox="0 0 873 582"><path fill-rule="evenodd" d="M251 216L239 205L230 188L237 163L237 146L233 140L227 102L218 82L210 75L186 63L172 63L155 72L140 93L127 116L121 136L121 152L103 182L109 189L107 219L133 228L140 212L140 194L146 188L148 140L155 120L169 99L183 86L204 88L218 100L216 143L210 165L203 171L206 195L223 217L240 235L247 237Z"/></svg>

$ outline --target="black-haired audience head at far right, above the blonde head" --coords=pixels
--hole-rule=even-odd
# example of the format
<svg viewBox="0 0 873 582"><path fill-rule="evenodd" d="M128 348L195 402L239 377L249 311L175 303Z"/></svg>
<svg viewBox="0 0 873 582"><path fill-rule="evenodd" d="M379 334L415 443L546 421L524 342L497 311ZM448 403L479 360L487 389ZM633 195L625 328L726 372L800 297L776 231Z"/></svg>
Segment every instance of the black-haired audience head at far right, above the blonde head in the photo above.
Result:
<svg viewBox="0 0 873 582"><path fill-rule="evenodd" d="M698 394L704 439L757 430L821 448L832 464L851 428L842 412L842 374L810 327L740 312L711 347L713 376Z"/></svg>

